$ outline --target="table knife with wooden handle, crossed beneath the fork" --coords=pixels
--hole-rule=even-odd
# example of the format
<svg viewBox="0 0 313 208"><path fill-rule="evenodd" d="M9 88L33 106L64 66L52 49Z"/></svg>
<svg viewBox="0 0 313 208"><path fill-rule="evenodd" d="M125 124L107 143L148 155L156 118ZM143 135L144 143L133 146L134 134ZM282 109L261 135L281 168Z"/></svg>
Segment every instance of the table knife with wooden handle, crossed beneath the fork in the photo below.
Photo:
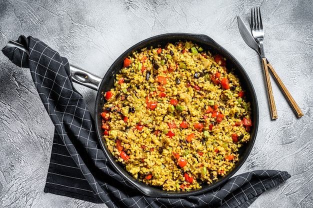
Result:
<svg viewBox="0 0 313 208"><path fill-rule="evenodd" d="M245 26L245 24L244 24L244 22L243 22L243 20L241 19L240 16L238 16L238 27L239 27L239 32L241 34L241 37L245 41L245 43L248 46L250 46L252 49L254 49L260 55L260 48L259 48L257 42L255 41L254 37L250 33L249 29ZM291 104L291 106L292 106L293 110L295 111L296 115L298 117L301 117L302 115L304 115L303 112L301 111L301 109L299 108L299 106L297 105L297 103L295 102L295 100L293 99L293 97L291 96L291 94L289 93L288 89L283 84L283 82L279 78L278 74L276 73L276 71L271 66L271 64L268 62L267 59L266 59L266 62L267 62L268 68L270 69L270 71L273 74L276 82L280 86L280 89L282 90L283 94L287 97L287 100L289 101L289 104Z"/></svg>

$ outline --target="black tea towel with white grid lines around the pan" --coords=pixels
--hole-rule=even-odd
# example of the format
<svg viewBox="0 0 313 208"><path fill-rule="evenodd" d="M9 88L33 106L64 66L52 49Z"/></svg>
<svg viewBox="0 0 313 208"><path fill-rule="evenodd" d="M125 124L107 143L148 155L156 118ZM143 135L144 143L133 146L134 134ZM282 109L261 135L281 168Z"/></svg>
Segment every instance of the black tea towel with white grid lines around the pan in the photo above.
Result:
<svg viewBox="0 0 313 208"><path fill-rule="evenodd" d="M199 195L145 196L115 172L101 150L86 103L73 87L67 59L34 37L21 35L17 42L29 54L16 47L4 47L2 52L30 69L55 126L44 192L108 207L248 207L265 190L290 177L286 171L255 170Z"/></svg>

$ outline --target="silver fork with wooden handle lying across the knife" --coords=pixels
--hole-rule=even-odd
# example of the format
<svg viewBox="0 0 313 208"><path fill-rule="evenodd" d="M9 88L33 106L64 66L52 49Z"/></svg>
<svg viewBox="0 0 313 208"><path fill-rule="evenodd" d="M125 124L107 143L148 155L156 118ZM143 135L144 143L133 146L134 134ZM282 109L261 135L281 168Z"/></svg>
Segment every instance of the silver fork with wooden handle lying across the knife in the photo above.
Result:
<svg viewBox="0 0 313 208"><path fill-rule="evenodd" d="M278 118L278 116L277 116L275 100L274 100L274 96L273 96L273 92L271 88L271 83L269 79L267 60L264 54L264 48L263 48L264 30L263 30L261 12L260 12L259 7L251 8L251 32L252 32L252 36L258 42L259 47L260 47L260 56L262 58L262 65L264 69L271 119L276 119Z"/></svg>

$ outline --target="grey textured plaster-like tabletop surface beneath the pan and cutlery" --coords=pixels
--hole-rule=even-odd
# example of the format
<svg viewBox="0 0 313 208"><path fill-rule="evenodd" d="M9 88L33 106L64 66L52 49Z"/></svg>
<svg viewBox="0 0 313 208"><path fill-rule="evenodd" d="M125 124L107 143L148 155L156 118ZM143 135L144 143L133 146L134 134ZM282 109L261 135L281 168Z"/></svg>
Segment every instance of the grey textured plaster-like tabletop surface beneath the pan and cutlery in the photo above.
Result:
<svg viewBox="0 0 313 208"><path fill-rule="evenodd" d="M261 7L265 54L302 109L299 119L273 79L278 119L270 119L260 58L237 27L237 15L248 24L252 6ZM291 174L250 207L313 206L312 26L311 0L0 0L1 48L32 35L100 77L124 50L156 34L202 33L226 48L245 68L259 103L255 145L237 174ZM74 85L93 112L96 92ZM29 70L1 53L0 207L105 207L43 193L53 131Z"/></svg>

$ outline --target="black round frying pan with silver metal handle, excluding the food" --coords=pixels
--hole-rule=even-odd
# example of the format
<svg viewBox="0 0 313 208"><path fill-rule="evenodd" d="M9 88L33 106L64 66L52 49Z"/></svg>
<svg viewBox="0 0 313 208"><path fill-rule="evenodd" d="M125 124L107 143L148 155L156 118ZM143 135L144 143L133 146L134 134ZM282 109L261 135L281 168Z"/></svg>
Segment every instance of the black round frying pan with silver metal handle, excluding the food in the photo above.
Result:
<svg viewBox="0 0 313 208"><path fill-rule="evenodd" d="M101 128L102 121L101 121L101 112L103 104L105 103L104 93L111 88L113 88L113 83L115 80L116 73L119 72L119 70L123 66L123 61L125 57L130 56L132 52L139 51L141 48L144 47L164 47L167 43L175 43L177 41L192 41L193 43L198 44L201 46L205 51L210 51L212 54L221 54L223 57L226 57L226 67L228 69L234 68L234 73L239 77L241 86L243 89L246 90L245 96L248 101L251 103L251 119L252 119L252 126L250 128L250 140L245 143L240 149L239 149L239 159L236 161L235 166L228 171L228 173L224 176L219 177L217 180L215 180L211 184L202 184L202 187L199 189L192 189L189 191L165 191L162 190L159 187L154 187L147 185L135 178L133 178L122 165L117 163L115 161L115 158L112 156L110 151L107 149L105 142L102 140L103 136L103 130ZM20 49L23 49L20 47L20 45L14 41L10 41L7 46L15 46ZM137 44L130 47L128 50L126 50L124 53L122 53L114 62L113 64L108 68L107 72L105 73L103 78L100 78L94 74L90 74L89 72L74 66L70 65L72 80L74 82L80 83L82 85L88 86L92 89L97 90L96 95L96 101L95 101L95 126L96 126L96 132L99 139L99 142L101 144L101 148L103 149L104 154L108 158L111 165L114 167L114 169L129 183L131 183L133 186L135 186L139 191L141 191L143 194L148 196L156 196L156 197L184 197L184 196L191 196L203 193L205 191L208 191L212 188L215 188L222 183L226 182L229 177L231 177L244 163L246 158L248 157L255 137L257 133L257 127L258 127L258 105L256 100L255 91L253 88L253 85L241 66L241 64L232 56L227 50L225 50L223 47L221 47L219 44L217 44L214 40L212 40L210 37L203 35L203 34L189 34L189 33L167 33L167 34L160 34L156 35L150 38L147 38L145 40L142 40L141 42L138 42Z"/></svg>

